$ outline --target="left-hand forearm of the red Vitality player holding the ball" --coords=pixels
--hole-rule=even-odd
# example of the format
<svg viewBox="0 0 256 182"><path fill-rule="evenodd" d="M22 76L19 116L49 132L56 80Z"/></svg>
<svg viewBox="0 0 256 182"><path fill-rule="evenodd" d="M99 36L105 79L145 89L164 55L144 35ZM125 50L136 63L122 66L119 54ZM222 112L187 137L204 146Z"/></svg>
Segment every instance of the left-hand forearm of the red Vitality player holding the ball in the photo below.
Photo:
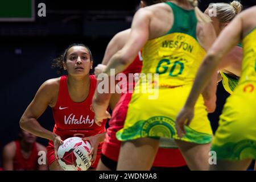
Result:
<svg viewBox="0 0 256 182"><path fill-rule="evenodd" d="M23 130L26 130L29 133L34 134L41 138L53 140L56 137L56 134L52 133L49 130L44 129L44 127L42 127L40 123L32 117L22 117L20 119L19 125Z"/></svg>

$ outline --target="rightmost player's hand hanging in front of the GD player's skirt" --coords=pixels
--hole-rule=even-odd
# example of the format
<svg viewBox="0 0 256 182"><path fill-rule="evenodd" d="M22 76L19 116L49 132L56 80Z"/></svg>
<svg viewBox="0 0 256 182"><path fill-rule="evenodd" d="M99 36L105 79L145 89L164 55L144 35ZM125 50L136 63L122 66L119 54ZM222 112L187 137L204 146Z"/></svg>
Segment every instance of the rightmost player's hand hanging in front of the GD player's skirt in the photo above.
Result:
<svg viewBox="0 0 256 182"><path fill-rule="evenodd" d="M186 133L185 125L189 126L191 120L194 117L194 109L190 107L183 107L176 118L176 130L178 137L183 137Z"/></svg>

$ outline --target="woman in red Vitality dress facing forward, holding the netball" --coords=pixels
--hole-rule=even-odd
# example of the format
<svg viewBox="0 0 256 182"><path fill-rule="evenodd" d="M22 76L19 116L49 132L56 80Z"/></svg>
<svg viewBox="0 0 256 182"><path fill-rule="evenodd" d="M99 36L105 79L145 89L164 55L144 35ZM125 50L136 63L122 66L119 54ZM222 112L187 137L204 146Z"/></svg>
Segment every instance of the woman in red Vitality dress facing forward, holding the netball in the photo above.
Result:
<svg viewBox="0 0 256 182"><path fill-rule="evenodd" d="M92 97L97 80L89 75L92 65L92 53L88 47L84 44L69 46L53 64L53 67L65 70L68 74L44 82L20 119L22 129L49 139L47 159L50 170L61 170L56 161L57 148L64 139L74 136L90 141L91 168L97 167L105 138L106 119L101 126L94 123ZM52 108L55 120L53 132L44 129L37 121L48 106Z"/></svg>

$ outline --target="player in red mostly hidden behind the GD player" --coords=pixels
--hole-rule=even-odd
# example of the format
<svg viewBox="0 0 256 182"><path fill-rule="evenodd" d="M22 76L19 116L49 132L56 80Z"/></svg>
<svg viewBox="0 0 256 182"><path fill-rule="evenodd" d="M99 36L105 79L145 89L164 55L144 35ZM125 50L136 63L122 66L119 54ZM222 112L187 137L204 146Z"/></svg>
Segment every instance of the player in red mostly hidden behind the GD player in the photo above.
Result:
<svg viewBox="0 0 256 182"><path fill-rule="evenodd" d="M141 1L141 7L152 5L156 1L148 0L148 1ZM105 67L108 64L109 59L114 55L115 52L122 49L122 47L127 42L129 38L130 29L119 32L114 38L110 41L104 59L102 61L103 65L98 65L99 67ZM118 130L123 128L127 109L129 102L131 100L131 96L133 93L133 89L135 86L135 82L130 80L129 82L129 73L140 73L142 69L142 57L141 53L139 52L135 60L129 67L123 71L127 77L127 85L126 89L123 89L121 98L118 104L115 106L115 109L112 113L112 118L109 121L109 128L107 129L106 138L104 140L104 144L102 146L102 154L101 160L98 164L97 170L115 170L117 167L118 155L119 150L121 147L121 142L117 140L115 134ZM97 69L96 69L97 74ZM106 94L105 94L106 96ZM99 94L96 91L94 94L94 99L104 101L104 94ZM154 111L154 110L152 110ZM166 146L166 147L176 147L176 146ZM167 169L167 170L188 170L187 164L179 151L178 148L159 148L158 154L156 155L153 168L154 170L159 169Z"/></svg>

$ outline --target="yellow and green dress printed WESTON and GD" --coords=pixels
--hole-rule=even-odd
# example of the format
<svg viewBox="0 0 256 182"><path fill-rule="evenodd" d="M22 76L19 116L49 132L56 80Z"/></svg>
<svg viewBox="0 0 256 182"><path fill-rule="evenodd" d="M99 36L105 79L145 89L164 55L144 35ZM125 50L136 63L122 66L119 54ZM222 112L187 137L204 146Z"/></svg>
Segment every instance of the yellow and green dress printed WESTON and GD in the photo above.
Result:
<svg viewBox="0 0 256 182"><path fill-rule="evenodd" d="M117 133L119 140L143 137L180 139L175 119L185 104L205 51L196 38L195 10L184 10L171 2L167 5L173 10L174 24L166 35L149 40L142 50L142 75L146 75L146 79L141 78L135 86L124 128ZM152 74L158 79L150 80ZM149 88L150 85L159 89L142 92L144 87ZM200 96L195 118L185 128L187 133L181 140L209 143L212 129L207 114Z"/></svg>

